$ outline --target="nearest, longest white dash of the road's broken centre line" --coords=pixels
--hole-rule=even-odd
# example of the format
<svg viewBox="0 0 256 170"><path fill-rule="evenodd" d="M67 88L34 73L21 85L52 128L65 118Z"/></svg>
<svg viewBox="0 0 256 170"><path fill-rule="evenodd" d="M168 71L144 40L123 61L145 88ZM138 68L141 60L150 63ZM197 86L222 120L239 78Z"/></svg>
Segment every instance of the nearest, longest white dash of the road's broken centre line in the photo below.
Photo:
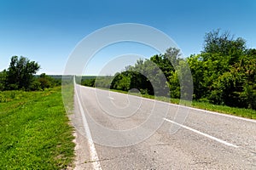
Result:
<svg viewBox="0 0 256 170"><path fill-rule="evenodd" d="M209 134L207 134L207 133L201 133L200 131L195 130L194 128L186 127L186 126L184 126L184 125L182 125L182 124L179 124L179 123L177 123L177 122L173 122L173 121L171 121L171 120L169 120L169 119L166 119L166 118L163 118L163 119L164 119L165 121L167 121L167 122L172 122L173 124L176 124L177 126L186 128L186 129L188 129L188 130L190 130L190 131L192 131L192 132L194 132L194 133L198 133L198 134L201 134L201 135L203 135L203 136L205 136L205 137L207 137L207 138L209 138L209 139L213 139L213 140L215 140L215 141L217 141L217 142L219 142L219 143L221 143L221 144L226 144L226 145L228 145L228 146L232 146L232 147L235 147L235 148L238 148L238 147L239 147L239 146L237 146L236 144L230 144L229 142L226 142L226 141L224 141L224 140L222 140L222 139L215 138L215 137L213 137L213 136L211 136L211 135L209 135Z"/></svg>

